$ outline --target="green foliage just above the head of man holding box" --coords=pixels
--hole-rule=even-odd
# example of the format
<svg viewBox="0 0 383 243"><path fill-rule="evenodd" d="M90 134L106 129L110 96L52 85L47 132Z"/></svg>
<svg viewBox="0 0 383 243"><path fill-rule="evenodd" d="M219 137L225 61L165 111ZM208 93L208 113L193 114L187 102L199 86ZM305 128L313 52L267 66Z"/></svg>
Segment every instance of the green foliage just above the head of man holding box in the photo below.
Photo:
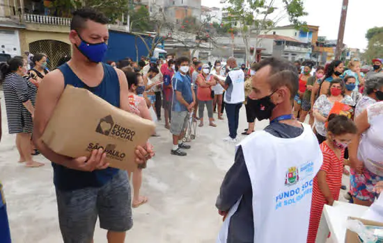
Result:
<svg viewBox="0 0 383 243"><path fill-rule="evenodd" d="M104 15L110 19L111 23L121 19L123 14L126 14L129 10L128 0L84 0L83 2L84 6L104 12Z"/></svg>

